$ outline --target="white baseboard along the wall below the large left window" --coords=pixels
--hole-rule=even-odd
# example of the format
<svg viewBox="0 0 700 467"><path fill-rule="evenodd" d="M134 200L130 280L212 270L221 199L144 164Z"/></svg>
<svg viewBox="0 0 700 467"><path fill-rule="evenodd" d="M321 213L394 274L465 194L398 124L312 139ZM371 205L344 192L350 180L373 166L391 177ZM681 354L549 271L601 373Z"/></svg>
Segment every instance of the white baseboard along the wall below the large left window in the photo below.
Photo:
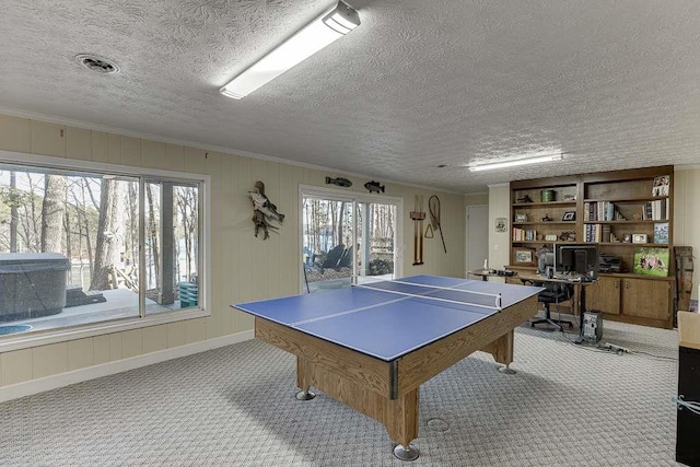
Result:
<svg viewBox="0 0 700 467"><path fill-rule="evenodd" d="M128 370L139 369L141 366L152 365L153 363L165 362L167 360L179 359L195 353L206 352L208 350L219 349L221 347L231 346L246 340L254 339L253 330L245 330L223 337L202 340L200 342L188 343L172 349L159 350L156 352L143 355L131 357L128 359L117 360L114 362L102 363L85 369L74 370L57 375L46 376L37 380L31 380L22 383L12 384L0 387L0 402L18 399L20 397L31 396L33 394L44 393L46 390L57 389L59 387L69 386L75 383L94 380L102 376L121 373Z"/></svg>

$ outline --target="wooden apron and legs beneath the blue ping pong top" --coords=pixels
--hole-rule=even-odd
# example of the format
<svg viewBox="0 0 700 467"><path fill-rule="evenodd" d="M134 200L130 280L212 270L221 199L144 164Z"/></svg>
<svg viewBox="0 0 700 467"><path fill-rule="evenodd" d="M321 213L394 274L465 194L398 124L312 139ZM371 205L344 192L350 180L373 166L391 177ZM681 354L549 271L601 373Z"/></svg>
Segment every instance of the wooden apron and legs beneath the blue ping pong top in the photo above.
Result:
<svg viewBox="0 0 700 467"><path fill-rule="evenodd" d="M535 295L389 362L260 317L255 337L296 355L301 389L323 390L377 420L392 440L408 446L418 437L420 385L477 350L511 363L513 329L536 314Z"/></svg>

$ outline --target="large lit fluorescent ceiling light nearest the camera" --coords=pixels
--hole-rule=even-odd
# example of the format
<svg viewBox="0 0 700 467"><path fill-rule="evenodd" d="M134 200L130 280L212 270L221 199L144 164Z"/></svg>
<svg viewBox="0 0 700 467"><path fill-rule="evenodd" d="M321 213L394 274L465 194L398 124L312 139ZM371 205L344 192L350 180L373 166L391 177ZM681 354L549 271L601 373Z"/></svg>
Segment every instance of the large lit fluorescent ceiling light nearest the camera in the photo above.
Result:
<svg viewBox="0 0 700 467"><path fill-rule="evenodd" d="M220 92L228 97L243 98L359 25L358 12L340 1L234 78Z"/></svg>

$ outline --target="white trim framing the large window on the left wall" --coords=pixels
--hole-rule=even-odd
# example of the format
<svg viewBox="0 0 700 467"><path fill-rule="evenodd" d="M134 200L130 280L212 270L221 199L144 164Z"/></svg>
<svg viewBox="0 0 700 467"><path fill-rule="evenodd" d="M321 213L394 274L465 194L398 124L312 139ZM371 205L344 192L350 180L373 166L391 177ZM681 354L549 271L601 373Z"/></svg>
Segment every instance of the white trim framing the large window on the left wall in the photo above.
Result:
<svg viewBox="0 0 700 467"><path fill-rule="evenodd" d="M0 337L0 353L12 350L26 349L49 343L65 342L73 339L101 336L112 332L159 326L167 323L185 319L201 318L211 315L211 176L189 172L164 171L160 168L147 168L128 165L108 164L103 162L81 161L77 159L54 157L23 152L0 150L0 162L19 165L34 165L39 167L63 168L72 171L109 172L125 176L154 176L170 179L196 180L202 184L202 205L199 215L203 219L202 233L199 240L202 270L199 272L200 295L198 306L173 312L164 312L145 317L129 317L112 319L80 326L68 326L45 331L10 335Z"/></svg>

